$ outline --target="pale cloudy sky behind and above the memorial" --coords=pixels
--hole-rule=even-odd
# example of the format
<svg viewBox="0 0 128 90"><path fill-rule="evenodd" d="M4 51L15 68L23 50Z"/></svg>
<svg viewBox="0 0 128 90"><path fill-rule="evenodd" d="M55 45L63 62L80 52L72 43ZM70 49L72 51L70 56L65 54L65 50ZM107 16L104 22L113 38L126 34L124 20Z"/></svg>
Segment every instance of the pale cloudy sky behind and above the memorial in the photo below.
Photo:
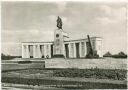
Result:
<svg viewBox="0 0 128 90"><path fill-rule="evenodd" d="M126 5L95 2L2 2L1 50L21 55L21 42L53 41L60 16L70 39L103 38L103 54L127 49Z"/></svg>

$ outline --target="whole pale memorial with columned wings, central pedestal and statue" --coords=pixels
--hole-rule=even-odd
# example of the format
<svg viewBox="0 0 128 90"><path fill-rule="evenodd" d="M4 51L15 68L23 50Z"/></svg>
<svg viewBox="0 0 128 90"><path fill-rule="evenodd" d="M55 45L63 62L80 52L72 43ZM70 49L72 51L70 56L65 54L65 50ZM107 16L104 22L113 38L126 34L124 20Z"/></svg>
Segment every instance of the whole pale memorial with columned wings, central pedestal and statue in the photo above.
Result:
<svg viewBox="0 0 128 90"><path fill-rule="evenodd" d="M87 55L97 54L102 55L102 38L89 37L85 39L69 40L65 38L67 34L62 29L62 20L58 16L57 29L54 31L53 42L22 42L22 58L86 58ZM32 55L30 55L32 52Z"/></svg>

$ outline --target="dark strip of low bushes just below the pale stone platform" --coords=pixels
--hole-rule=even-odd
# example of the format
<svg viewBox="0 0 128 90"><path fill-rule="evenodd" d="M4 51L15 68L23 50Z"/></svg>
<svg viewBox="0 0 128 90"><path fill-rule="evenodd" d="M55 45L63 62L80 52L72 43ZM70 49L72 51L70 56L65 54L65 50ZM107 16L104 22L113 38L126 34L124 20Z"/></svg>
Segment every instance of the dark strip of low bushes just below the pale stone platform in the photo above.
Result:
<svg viewBox="0 0 128 90"><path fill-rule="evenodd" d="M53 76L57 77L85 77L98 79L125 80L126 70L110 69L64 69L54 70Z"/></svg>

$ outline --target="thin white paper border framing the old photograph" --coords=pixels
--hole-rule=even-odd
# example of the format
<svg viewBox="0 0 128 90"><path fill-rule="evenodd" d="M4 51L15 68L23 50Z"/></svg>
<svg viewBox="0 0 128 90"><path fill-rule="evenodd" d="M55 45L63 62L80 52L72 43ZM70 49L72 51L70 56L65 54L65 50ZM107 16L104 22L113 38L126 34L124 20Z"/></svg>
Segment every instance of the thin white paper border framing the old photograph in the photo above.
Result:
<svg viewBox="0 0 128 90"><path fill-rule="evenodd" d="M90 3L125 3L126 4L126 22L127 22L127 25L126 25L126 29L127 29L127 46L128 46L128 0L1 0L0 1L0 13L1 13L1 2L19 2L19 1L41 1L41 2L65 2L65 1L72 1L72 2L90 2ZM0 21L1 21L1 14L0 14ZM128 55L128 47L127 47L127 55ZM0 57L1 57L1 22L0 22ZM127 63L128 63L128 60L127 60ZM128 70L128 65L127 65L127 70ZM1 58L0 58L0 71L1 71ZM128 76L128 73L127 73L127 76ZM0 73L0 80L1 80L1 73ZM128 80L128 78L127 78ZM128 83L127 83L128 85ZM0 82L0 90L1 90L1 82Z"/></svg>

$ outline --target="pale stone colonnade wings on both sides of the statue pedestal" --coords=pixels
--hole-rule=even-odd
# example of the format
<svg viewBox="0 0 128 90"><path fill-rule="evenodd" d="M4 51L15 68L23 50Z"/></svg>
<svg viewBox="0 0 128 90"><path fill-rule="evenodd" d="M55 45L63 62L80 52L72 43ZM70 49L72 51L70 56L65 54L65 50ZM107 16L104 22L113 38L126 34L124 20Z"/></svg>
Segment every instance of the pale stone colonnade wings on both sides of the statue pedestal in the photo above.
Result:
<svg viewBox="0 0 128 90"><path fill-rule="evenodd" d="M102 57L102 39L93 39L92 48ZM87 40L65 41L63 54L67 58L84 58L88 52ZM32 47L32 50L30 49ZM22 43L22 58L51 58L54 55L53 42L50 43ZM30 52L32 54L30 55Z"/></svg>

